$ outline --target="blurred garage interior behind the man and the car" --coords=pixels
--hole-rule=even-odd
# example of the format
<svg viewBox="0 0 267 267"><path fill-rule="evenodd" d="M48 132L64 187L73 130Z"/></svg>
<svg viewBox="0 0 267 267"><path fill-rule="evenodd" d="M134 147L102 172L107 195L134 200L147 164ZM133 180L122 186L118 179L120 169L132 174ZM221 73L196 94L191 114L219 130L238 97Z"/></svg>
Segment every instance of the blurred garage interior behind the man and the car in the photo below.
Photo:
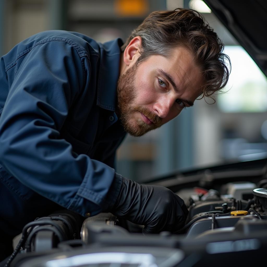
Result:
<svg viewBox="0 0 267 267"><path fill-rule="evenodd" d="M139 182L178 170L267 158L267 80L200 0L0 0L0 56L37 32L62 29L105 42L127 36L154 10L201 12L225 46L232 72L225 93L195 101L177 118L117 152L117 172ZM0 85L1 89L1 85Z"/></svg>

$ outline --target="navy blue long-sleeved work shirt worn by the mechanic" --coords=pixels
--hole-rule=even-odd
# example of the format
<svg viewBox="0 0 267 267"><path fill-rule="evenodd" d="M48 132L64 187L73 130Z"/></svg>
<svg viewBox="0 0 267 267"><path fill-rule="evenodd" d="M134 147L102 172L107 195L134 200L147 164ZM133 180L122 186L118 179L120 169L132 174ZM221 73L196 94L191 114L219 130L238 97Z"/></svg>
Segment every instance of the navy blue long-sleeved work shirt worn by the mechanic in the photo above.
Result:
<svg viewBox="0 0 267 267"><path fill-rule="evenodd" d="M0 231L18 234L58 207L86 216L114 205L122 44L47 31L1 58Z"/></svg>

